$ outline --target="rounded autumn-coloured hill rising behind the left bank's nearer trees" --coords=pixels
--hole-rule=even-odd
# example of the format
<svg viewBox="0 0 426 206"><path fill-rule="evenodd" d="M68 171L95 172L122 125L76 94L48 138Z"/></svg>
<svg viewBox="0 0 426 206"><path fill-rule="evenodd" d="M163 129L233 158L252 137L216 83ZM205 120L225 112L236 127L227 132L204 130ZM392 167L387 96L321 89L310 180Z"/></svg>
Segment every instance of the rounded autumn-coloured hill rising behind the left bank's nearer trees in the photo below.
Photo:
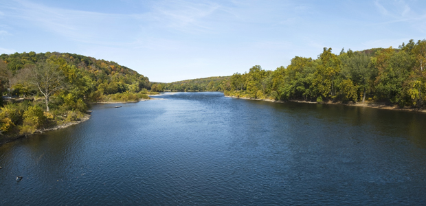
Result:
<svg viewBox="0 0 426 206"><path fill-rule="evenodd" d="M140 91L141 89L149 89L150 82L146 76L128 67L117 64L117 62L108 60L99 60L90 56L82 56L79 54L59 53L59 52L23 52L15 54L1 54L0 60L6 64L12 76L16 75L25 67L36 65L40 62L50 61L58 65L63 71L66 67L74 66L81 72L82 76L90 79L90 89L88 91L100 91L105 95L113 93L123 93L131 90ZM65 76L67 73L65 73ZM3 80L4 83L4 80Z"/></svg>

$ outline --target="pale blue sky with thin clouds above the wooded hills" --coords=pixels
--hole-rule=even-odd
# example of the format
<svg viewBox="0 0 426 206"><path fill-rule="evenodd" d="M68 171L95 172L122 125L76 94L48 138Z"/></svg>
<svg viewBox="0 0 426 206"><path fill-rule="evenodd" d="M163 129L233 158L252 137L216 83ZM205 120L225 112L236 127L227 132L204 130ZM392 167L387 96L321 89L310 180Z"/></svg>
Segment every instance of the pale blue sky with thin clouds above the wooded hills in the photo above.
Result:
<svg viewBox="0 0 426 206"><path fill-rule="evenodd" d="M0 1L0 54L69 52L155 82L426 38L426 1Z"/></svg>

